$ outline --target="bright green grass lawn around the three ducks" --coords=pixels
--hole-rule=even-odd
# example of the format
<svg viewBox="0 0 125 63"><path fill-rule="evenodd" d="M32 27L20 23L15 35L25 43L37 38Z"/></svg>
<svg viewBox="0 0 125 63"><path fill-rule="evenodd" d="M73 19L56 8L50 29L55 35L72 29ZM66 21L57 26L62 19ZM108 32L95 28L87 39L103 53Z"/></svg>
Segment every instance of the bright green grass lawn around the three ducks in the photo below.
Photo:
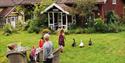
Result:
<svg viewBox="0 0 125 63"><path fill-rule="evenodd" d="M7 44L21 42L23 46L31 48L38 47L40 34L29 34L19 32L11 36L4 36L0 32L0 63L8 63L6 58ZM57 35L51 35L54 47L57 48ZM77 44L81 40L85 43L84 48L72 48L73 38ZM89 39L92 38L93 46L88 46ZM71 34L66 35L66 46L61 54L61 63L125 63L125 32L107 34Z"/></svg>

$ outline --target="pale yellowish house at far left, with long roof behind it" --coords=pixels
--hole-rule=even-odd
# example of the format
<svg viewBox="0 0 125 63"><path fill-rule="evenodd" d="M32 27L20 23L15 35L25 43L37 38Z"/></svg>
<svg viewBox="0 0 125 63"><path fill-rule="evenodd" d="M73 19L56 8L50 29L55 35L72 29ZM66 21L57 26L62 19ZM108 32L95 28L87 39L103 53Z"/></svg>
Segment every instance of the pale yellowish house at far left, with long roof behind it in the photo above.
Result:
<svg viewBox="0 0 125 63"><path fill-rule="evenodd" d="M15 28L17 21L25 20L24 12L18 12L16 6L34 5L38 2L41 0L0 0L0 27L10 23Z"/></svg>

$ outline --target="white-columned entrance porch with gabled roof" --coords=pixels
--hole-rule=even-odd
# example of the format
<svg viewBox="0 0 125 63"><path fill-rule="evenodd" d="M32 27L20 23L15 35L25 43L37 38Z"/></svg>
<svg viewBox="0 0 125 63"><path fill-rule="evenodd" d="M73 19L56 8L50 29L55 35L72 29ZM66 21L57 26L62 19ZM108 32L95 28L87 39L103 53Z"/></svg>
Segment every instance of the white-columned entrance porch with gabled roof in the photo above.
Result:
<svg viewBox="0 0 125 63"><path fill-rule="evenodd" d="M57 30L58 28L68 30L71 24L76 23L76 17L71 15L64 7L67 8L65 5L54 3L42 12L47 14L48 27L52 30Z"/></svg>

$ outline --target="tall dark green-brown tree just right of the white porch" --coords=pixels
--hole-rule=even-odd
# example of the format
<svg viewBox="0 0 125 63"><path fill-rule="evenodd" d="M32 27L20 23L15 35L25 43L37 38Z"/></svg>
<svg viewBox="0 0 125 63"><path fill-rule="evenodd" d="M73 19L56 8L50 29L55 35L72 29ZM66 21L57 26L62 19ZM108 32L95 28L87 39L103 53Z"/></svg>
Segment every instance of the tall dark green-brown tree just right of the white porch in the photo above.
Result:
<svg viewBox="0 0 125 63"><path fill-rule="evenodd" d="M80 25L85 25L86 22L92 21L93 18L93 8L95 7L96 0L77 0L75 9L80 16Z"/></svg>

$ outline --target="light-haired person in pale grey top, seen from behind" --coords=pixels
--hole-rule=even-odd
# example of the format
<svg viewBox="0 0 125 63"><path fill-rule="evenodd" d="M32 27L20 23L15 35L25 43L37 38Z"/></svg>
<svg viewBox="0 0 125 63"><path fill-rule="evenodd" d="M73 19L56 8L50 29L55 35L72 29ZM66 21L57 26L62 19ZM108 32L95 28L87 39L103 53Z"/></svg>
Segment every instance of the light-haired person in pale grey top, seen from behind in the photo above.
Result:
<svg viewBox="0 0 125 63"><path fill-rule="evenodd" d="M52 42L49 40L50 35L49 34L45 34L44 35L44 40L45 43L43 45L43 63L52 63L52 58L53 58L53 44Z"/></svg>

